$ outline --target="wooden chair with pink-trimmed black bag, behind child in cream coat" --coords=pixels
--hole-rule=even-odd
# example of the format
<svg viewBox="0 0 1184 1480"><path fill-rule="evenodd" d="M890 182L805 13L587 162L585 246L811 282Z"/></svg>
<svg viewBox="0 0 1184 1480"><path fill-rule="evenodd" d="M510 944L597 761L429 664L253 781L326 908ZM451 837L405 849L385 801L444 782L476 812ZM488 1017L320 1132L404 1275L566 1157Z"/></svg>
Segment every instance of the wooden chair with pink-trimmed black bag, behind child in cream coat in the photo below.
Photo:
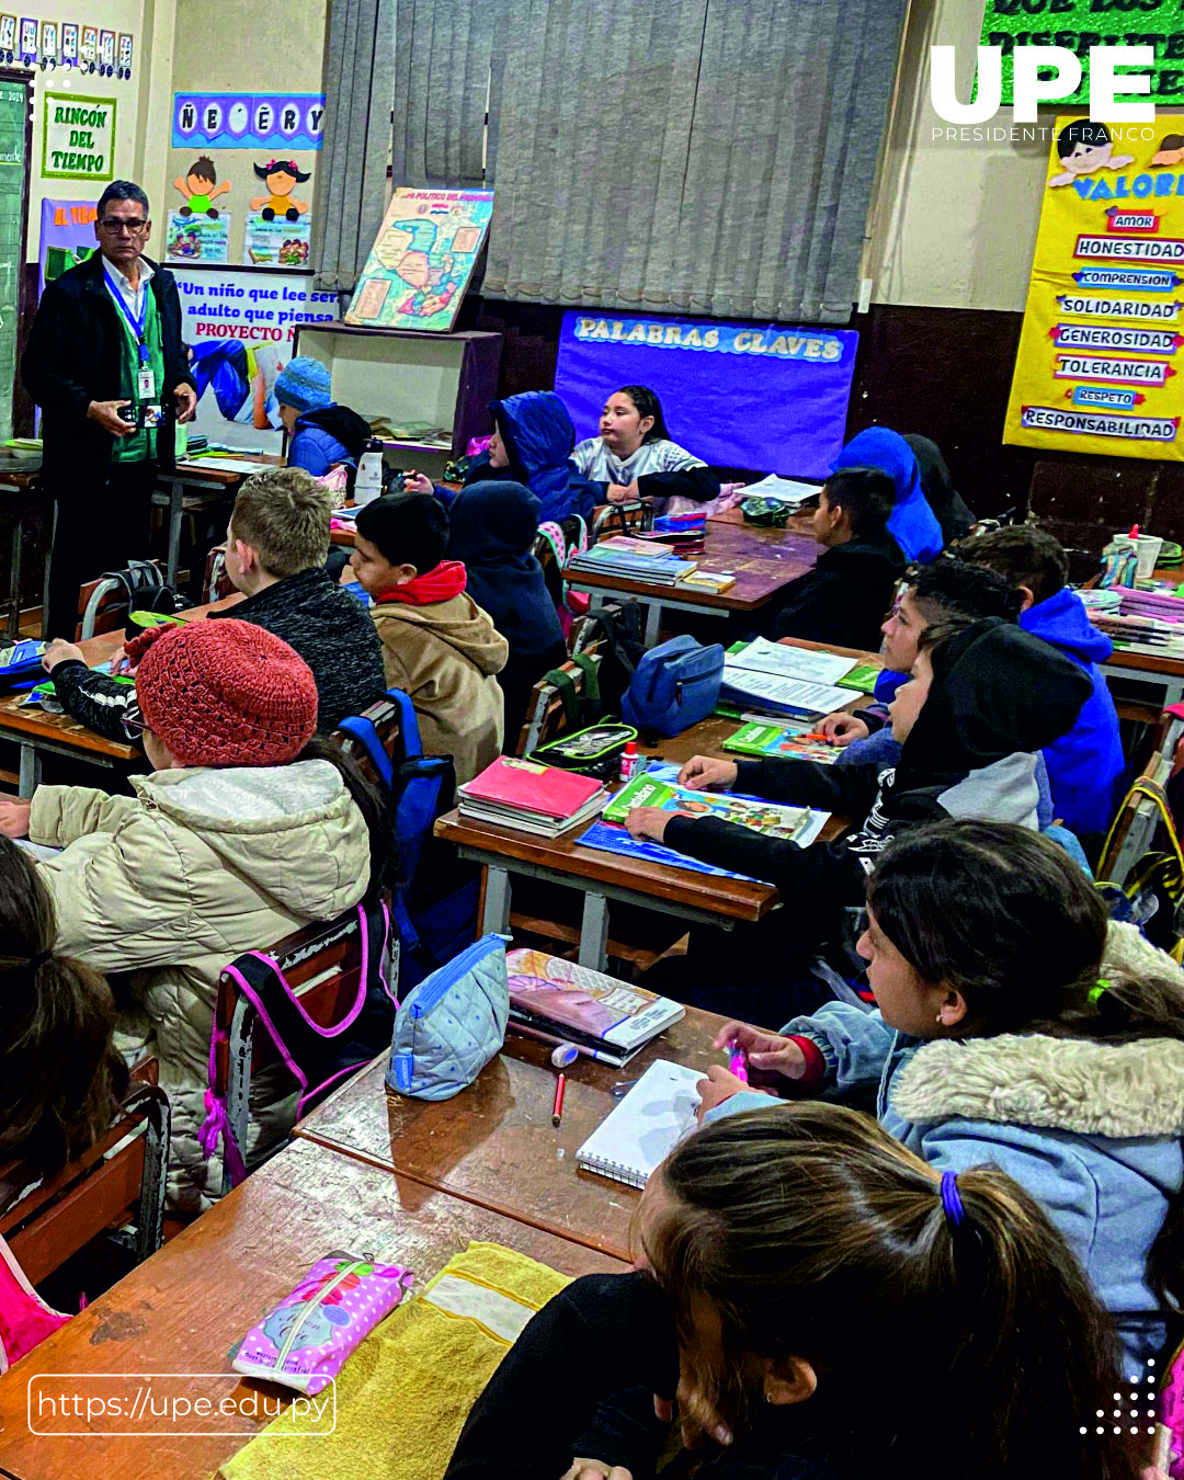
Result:
<svg viewBox="0 0 1184 1480"><path fill-rule="evenodd" d="M385 992L394 1020L397 980L385 895L334 921L306 925L265 953L246 952L226 963L218 978L209 1080L232 1140L232 1148L223 1146L223 1193L244 1175L237 1157L247 1148L252 1082L266 1070L278 1074L284 1066L300 1088L296 1119L302 1119L371 1061L373 1054L367 1054L329 1077L323 1074L334 1039L373 1003L374 989ZM281 1147L283 1141L274 1150Z"/></svg>

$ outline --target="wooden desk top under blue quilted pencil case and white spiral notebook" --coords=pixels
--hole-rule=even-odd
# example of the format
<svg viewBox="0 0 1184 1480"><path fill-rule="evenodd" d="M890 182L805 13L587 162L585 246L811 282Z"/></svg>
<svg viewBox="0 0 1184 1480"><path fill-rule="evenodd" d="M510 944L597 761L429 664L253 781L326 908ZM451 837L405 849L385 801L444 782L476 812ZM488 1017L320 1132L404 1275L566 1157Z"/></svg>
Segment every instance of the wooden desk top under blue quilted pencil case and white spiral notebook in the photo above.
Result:
<svg viewBox="0 0 1184 1480"><path fill-rule="evenodd" d="M453 1100L432 1104L386 1089L388 1055L330 1095L296 1126L296 1135L358 1157L398 1177L410 1177L559 1234L588 1249L628 1259L636 1188L576 1168L576 1151L619 1104L614 1085L669 1058L706 1074L724 1063L712 1039L724 1018L687 1008L656 1042L625 1069L579 1058L568 1069L562 1123L552 1126L555 1070L551 1049L517 1037L477 1082Z"/></svg>

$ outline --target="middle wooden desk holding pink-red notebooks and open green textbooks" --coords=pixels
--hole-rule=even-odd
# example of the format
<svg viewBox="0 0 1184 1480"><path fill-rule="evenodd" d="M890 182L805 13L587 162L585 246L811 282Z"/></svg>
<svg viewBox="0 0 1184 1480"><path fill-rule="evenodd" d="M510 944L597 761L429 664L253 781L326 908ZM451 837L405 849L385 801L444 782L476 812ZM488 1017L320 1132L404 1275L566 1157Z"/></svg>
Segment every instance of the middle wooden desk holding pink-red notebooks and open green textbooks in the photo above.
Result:
<svg viewBox="0 0 1184 1480"><path fill-rule="evenodd" d="M860 648L829 647L799 638L784 641L792 647L841 653L860 663L879 662L879 654ZM847 707L855 709L866 702L866 694L852 693ZM642 744L641 749L654 759L682 765L693 755L725 755L724 741L737 730L737 721L710 716L672 740L663 740L656 747ZM616 790L616 784L611 789ZM820 838L829 842L847 827L848 818L830 817ZM482 932L509 931L511 873L548 879L552 884L570 884L580 889L583 913L579 961L582 966L591 966L593 971L608 969L610 900L675 915L691 925L715 925L721 929L734 929L737 922L752 924L762 919L778 904L777 891L768 884L697 873L693 869L583 848L576 841L583 830L573 827L558 838L539 838L534 833L515 832L512 827L474 821L462 817L459 810L445 813L435 824L438 838L456 844L462 858L480 863L485 869Z"/></svg>

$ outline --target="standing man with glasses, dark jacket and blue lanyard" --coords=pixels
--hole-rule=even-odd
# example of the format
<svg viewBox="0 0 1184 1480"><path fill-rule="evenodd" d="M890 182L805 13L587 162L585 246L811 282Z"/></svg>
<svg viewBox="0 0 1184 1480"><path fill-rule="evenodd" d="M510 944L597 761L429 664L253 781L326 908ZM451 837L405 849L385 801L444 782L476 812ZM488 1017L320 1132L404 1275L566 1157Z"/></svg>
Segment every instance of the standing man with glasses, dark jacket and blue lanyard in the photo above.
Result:
<svg viewBox="0 0 1184 1480"><path fill-rule="evenodd" d="M139 185L108 185L99 250L46 287L21 361L58 515L47 636L73 641L83 582L147 552L157 472L197 407L176 283L142 256L151 229Z"/></svg>

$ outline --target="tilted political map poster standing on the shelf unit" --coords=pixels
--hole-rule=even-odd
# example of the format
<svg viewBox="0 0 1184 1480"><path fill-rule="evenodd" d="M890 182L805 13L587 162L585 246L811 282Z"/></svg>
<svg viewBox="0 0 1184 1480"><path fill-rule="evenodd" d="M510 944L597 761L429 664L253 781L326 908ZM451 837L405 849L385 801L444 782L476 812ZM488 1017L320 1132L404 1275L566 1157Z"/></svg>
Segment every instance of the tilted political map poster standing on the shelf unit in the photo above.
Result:
<svg viewBox="0 0 1184 1480"><path fill-rule="evenodd" d="M490 189L410 189L391 197L345 315L364 329L447 334L490 229Z"/></svg>

